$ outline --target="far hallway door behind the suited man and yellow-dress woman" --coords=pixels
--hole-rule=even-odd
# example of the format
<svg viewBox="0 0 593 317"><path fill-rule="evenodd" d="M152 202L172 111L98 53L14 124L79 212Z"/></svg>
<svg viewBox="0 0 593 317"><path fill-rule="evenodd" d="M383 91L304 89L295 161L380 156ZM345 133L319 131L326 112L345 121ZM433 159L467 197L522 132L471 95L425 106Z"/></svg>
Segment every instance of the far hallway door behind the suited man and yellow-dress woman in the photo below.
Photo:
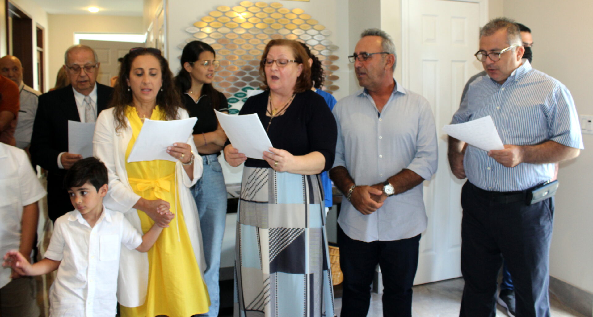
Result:
<svg viewBox="0 0 593 317"><path fill-rule="evenodd" d="M133 47L144 47L144 43L117 41L80 40L80 43L92 47L97 52L97 62L101 63L97 82L107 86L111 77L117 76L119 71L117 59L126 55Z"/></svg>

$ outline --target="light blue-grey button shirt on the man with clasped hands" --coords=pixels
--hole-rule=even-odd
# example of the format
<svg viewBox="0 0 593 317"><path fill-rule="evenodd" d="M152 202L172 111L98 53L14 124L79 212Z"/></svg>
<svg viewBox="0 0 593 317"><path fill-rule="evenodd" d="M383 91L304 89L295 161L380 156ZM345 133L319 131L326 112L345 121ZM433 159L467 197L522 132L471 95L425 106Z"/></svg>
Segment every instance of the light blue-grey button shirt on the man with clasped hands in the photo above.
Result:
<svg viewBox="0 0 593 317"><path fill-rule="evenodd" d="M365 89L338 101L332 112L338 135L333 166L345 166L357 185L384 182L404 168L425 180L436 172L435 120L422 96L396 82L380 114ZM412 238L427 220L420 184L368 215L343 198L337 221L350 238L372 242Z"/></svg>

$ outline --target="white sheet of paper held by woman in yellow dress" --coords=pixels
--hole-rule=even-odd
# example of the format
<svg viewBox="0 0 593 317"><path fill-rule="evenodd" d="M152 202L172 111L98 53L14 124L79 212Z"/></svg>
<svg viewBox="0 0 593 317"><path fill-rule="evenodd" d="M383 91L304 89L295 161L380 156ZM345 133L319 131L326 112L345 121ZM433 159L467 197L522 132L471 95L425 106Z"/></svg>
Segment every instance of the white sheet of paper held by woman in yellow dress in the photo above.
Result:
<svg viewBox="0 0 593 317"><path fill-rule="evenodd" d="M154 161L155 159L177 162L178 159L165 150L168 146L173 146L173 143L187 143L196 121L196 117L167 121L144 119L127 162Z"/></svg>

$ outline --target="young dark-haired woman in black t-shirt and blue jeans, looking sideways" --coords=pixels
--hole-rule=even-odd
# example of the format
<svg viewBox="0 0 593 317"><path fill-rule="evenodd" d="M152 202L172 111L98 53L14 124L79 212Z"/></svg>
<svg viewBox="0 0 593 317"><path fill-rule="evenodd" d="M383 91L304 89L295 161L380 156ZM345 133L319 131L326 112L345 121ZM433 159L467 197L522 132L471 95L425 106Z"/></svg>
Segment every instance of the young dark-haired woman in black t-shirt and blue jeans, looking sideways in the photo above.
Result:
<svg viewBox="0 0 593 317"><path fill-rule="evenodd" d="M190 117L197 117L193 140L202 156L202 178L192 187L200 215L206 271L204 280L210 294L210 310L202 316L218 316L218 271L227 220L227 187L222 176L218 155L227 141L214 110L227 111L227 98L212 87L218 60L211 46L202 41L188 43L181 53L181 70L175 81L181 100Z"/></svg>

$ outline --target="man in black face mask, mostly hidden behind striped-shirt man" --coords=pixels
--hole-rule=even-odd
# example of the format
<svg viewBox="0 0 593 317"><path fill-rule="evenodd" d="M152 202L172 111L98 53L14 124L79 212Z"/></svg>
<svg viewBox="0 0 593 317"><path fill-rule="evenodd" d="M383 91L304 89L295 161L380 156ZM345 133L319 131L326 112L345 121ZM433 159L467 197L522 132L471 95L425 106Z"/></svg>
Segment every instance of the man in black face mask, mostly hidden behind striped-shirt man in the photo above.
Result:
<svg viewBox="0 0 593 317"><path fill-rule="evenodd" d="M522 60L528 60L531 63L533 59L533 54L531 53L531 46L533 46L533 38L531 37L531 29L526 27L521 23L517 23L519 27L519 31L521 31L521 41L523 42L523 47L525 48L525 53L523 53ZM475 81L477 78L486 75L486 71L482 71L477 73L474 76L471 76L470 80L467 81L466 87L463 88L463 93L461 94L461 101L463 98L466 97L467 89L470 87L470 84ZM556 172L557 173L557 164L556 164ZM556 178L556 177L554 177ZM511 273L509 273L508 268L506 267L506 262L502 262L502 282L500 282L500 294L496 299L496 302L503 306L506 309L506 312L509 316L515 317L515 291L513 287L513 281L511 278Z"/></svg>

